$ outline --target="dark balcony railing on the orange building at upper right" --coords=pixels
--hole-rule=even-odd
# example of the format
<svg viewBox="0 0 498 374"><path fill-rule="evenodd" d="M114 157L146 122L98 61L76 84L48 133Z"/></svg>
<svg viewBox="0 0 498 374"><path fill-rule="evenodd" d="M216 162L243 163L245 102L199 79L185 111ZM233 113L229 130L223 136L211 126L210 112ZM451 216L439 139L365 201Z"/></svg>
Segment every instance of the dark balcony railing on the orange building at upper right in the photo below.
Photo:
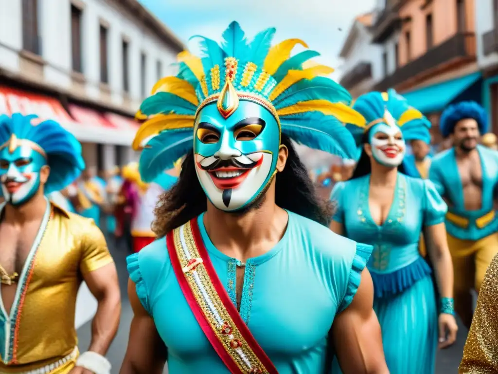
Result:
<svg viewBox="0 0 498 374"><path fill-rule="evenodd" d="M424 55L396 69L375 85L376 90L396 87L409 79L431 75L437 67L449 63L476 59L476 36L473 32L459 33L429 49Z"/></svg>

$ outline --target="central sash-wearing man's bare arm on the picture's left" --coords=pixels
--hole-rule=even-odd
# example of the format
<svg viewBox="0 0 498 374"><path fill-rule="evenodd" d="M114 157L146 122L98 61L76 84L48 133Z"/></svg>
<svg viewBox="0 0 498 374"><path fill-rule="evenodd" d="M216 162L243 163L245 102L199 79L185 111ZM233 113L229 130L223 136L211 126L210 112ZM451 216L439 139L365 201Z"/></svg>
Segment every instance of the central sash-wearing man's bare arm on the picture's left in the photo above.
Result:
<svg viewBox="0 0 498 374"><path fill-rule="evenodd" d="M128 298L133 319L120 374L162 374L167 358L166 346L157 333L154 320L140 303L131 280L128 280Z"/></svg>

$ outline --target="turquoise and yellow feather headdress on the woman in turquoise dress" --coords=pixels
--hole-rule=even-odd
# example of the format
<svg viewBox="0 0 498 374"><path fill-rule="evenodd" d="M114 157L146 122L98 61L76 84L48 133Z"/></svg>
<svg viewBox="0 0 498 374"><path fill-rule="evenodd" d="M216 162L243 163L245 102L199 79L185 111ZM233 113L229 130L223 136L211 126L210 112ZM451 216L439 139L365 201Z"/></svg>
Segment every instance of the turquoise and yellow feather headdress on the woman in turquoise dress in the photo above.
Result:
<svg viewBox="0 0 498 374"><path fill-rule="evenodd" d="M420 111L411 107L394 89L366 93L354 102L353 109L359 112L367 123L366 126L353 123L346 125L358 146L361 145L364 134L379 123L398 126L405 141L422 140L427 144L431 141L430 121Z"/></svg>

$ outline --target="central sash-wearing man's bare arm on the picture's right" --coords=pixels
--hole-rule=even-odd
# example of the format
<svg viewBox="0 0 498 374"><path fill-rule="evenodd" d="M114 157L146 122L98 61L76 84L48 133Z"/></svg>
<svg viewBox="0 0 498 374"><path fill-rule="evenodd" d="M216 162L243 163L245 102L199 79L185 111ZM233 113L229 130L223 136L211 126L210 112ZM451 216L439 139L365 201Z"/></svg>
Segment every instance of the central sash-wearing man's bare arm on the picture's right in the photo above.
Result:
<svg viewBox="0 0 498 374"><path fill-rule="evenodd" d="M334 346L344 374L388 374L382 336L373 311L373 283L367 269L351 304L332 326Z"/></svg>

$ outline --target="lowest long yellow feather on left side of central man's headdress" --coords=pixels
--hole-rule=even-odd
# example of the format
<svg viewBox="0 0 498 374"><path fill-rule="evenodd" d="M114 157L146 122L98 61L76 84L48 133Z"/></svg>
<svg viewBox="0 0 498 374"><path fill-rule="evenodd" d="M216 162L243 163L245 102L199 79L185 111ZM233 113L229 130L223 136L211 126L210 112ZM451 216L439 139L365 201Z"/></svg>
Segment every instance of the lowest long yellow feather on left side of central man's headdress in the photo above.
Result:
<svg viewBox="0 0 498 374"><path fill-rule="evenodd" d="M131 147L138 151L142 142L163 130L186 129L194 127L195 116L184 116L177 114L159 114L144 122L135 134Z"/></svg>

